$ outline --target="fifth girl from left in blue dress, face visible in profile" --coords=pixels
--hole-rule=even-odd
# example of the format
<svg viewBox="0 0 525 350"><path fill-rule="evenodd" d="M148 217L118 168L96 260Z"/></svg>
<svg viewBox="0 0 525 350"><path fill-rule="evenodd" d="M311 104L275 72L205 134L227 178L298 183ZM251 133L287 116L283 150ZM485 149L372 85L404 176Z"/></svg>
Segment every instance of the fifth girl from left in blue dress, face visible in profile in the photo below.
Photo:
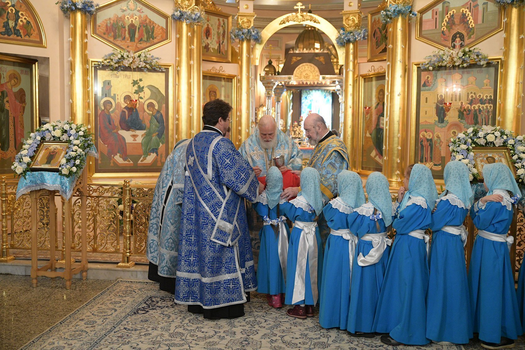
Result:
<svg viewBox="0 0 525 350"><path fill-rule="evenodd" d="M406 193L405 193L406 190ZM374 330L386 345L425 345L428 241L437 190L423 164L409 166L396 201L397 231L386 266L374 318ZM401 203L398 203L401 200Z"/></svg>

